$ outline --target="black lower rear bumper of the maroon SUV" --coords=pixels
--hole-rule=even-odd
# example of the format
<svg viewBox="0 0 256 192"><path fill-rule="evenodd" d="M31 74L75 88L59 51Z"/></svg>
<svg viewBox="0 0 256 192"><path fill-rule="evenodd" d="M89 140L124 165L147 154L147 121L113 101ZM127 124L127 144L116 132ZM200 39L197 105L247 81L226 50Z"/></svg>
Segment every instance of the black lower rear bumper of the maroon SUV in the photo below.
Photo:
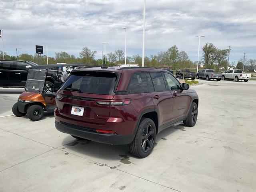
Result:
<svg viewBox="0 0 256 192"><path fill-rule="evenodd" d="M62 124L56 121L55 127L60 132L105 144L124 145L130 144L134 140L134 135L120 136L118 134L101 134L90 131L90 128Z"/></svg>

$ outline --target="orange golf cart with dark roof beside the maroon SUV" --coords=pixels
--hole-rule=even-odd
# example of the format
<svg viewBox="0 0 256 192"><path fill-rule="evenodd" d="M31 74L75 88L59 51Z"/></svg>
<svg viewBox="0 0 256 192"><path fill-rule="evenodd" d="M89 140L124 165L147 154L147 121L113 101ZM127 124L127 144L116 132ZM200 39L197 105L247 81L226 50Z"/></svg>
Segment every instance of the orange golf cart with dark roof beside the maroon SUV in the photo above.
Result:
<svg viewBox="0 0 256 192"><path fill-rule="evenodd" d="M53 112L56 103L56 91L60 88L63 81L58 76L58 81L54 84L46 81L48 71L51 68L82 66L83 64L58 64L58 65L36 65L28 69L28 79L25 91L20 94L18 101L12 106L12 113L17 116L25 116L32 121L38 121L44 116L44 111Z"/></svg>

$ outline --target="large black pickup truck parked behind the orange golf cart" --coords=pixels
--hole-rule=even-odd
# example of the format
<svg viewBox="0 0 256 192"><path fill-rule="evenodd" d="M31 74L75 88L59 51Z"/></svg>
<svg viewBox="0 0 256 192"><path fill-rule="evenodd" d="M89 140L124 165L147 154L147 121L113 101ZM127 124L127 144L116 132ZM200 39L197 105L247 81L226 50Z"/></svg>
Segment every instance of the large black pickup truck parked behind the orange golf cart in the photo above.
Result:
<svg viewBox="0 0 256 192"><path fill-rule="evenodd" d="M37 64L32 61L0 60L0 87L24 88L28 76L26 68L36 65ZM54 84L58 79L64 82L66 77L66 72L59 71L57 74L57 70L48 70L46 81Z"/></svg>

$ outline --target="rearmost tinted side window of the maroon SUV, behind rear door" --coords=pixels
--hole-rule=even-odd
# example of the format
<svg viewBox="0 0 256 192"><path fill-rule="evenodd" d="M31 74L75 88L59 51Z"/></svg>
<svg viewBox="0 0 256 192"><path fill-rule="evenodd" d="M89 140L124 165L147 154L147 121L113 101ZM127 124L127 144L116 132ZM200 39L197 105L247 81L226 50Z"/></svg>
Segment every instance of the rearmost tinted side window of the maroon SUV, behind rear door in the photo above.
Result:
<svg viewBox="0 0 256 192"><path fill-rule="evenodd" d="M127 93L148 92L148 83L144 73L135 73L132 75L127 88Z"/></svg>

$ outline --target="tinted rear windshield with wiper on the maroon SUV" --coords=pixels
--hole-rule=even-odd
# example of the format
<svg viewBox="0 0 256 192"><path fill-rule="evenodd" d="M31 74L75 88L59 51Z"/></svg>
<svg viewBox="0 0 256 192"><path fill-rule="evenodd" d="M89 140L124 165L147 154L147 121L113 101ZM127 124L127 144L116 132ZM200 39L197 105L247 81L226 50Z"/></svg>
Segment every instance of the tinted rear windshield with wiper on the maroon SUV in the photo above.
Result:
<svg viewBox="0 0 256 192"><path fill-rule="evenodd" d="M64 82L61 90L81 93L114 95L118 76L108 72L73 72Z"/></svg>

